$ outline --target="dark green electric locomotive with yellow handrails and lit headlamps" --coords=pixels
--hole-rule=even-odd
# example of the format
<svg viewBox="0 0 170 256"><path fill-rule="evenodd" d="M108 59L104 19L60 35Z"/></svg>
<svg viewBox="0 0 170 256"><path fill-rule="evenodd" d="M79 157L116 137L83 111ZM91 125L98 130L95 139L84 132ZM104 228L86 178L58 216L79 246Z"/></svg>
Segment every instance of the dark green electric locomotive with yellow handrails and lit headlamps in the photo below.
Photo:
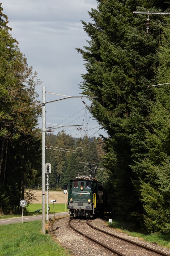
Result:
<svg viewBox="0 0 170 256"><path fill-rule="evenodd" d="M101 182L89 173L79 175L68 183L69 216L93 217L106 210L106 193Z"/></svg>

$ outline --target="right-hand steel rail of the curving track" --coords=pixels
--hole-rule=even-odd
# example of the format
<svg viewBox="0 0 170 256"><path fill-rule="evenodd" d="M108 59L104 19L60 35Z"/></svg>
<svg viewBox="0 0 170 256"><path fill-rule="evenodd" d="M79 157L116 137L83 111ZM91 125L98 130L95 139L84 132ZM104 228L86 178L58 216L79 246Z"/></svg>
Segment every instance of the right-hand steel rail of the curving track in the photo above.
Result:
<svg viewBox="0 0 170 256"><path fill-rule="evenodd" d="M144 249L147 249L147 250L149 250L149 251L151 251L151 252L155 252L155 253L157 253L157 254L159 254L159 255L161 255L161 256L170 256L169 254L167 254L167 253L165 253L165 252L157 251L157 250L155 250L155 249L153 249L153 248L150 248L150 247L148 247L148 246L145 246L145 245L143 245L143 244L136 243L136 242L131 241L131 240L127 239L127 238L122 238L122 237L120 237L120 236L118 236L118 235L111 234L111 233L109 233L109 232L107 232L107 231L105 231L105 230L101 230L101 229L99 229L99 228L96 228L96 227L94 227L91 223L89 223L89 219L86 221L86 223L87 223L91 228L93 228L93 229L95 229L95 230L98 230L98 231L101 231L101 232L103 232L103 233L105 233L105 234L108 234L108 235L110 235L110 236L113 236L113 237L115 237L115 238L119 238L119 239L121 239L121 240L123 240L123 241L126 241L126 242L128 242L128 243L132 243L132 244L134 244L134 245L137 245L137 246L139 246L139 247L142 247L142 248L144 248Z"/></svg>

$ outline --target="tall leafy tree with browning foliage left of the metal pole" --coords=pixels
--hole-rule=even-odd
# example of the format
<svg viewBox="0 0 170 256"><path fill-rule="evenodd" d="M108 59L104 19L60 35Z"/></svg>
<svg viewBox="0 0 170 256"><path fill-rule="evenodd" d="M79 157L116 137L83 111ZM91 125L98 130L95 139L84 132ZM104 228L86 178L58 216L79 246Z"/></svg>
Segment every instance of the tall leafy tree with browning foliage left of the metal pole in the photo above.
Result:
<svg viewBox="0 0 170 256"><path fill-rule="evenodd" d="M0 188L16 210L40 167L41 104L35 91L40 81L9 34L2 10L0 4Z"/></svg>

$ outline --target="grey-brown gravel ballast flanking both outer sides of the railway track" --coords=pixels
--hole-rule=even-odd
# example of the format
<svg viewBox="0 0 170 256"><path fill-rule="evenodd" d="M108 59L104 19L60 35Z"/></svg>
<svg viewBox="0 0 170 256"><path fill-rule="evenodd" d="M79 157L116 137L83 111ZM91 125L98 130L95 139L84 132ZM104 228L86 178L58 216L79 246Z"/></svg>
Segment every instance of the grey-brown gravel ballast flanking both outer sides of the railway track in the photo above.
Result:
<svg viewBox="0 0 170 256"><path fill-rule="evenodd" d="M112 256L114 253L104 249L102 246L93 243L88 238L83 237L81 234L77 234L68 226L69 217L58 219L53 224L53 234L55 235L56 242L59 242L63 247L69 249L72 255L90 255L90 256ZM92 224L102 230L116 234L120 237L127 238L137 243L141 243L145 246L152 247L161 252L165 252L170 255L170 250L165 247L160 247L157 244L148 243L141 238L131 237L128 234L124 234L117 230L108 227L106 221L99 218L92 220Z"/></svg>

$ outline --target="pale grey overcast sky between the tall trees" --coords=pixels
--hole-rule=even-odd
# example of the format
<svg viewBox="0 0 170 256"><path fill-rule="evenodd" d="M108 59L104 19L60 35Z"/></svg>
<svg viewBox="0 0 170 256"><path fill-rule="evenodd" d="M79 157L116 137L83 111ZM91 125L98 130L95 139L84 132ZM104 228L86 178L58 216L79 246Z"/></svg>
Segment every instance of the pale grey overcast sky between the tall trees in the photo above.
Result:
<svg viewBox="0 0 170 256"><path fill-rule="evenodd" d="M75 48L83 48L89 40L81 20L91 21L88 11L97 7L96 0L1 0L3 13L9 18L10 32L25 54L29 66L38 72L43 84L36 88L42 101L42 86L46 92L79 96L85 67L81 54ZM92 22L92 21L91 21ZM46 102L61 97L46 93ZM83 99L88 105L90 102ZM67 99L46 105L46 123L60 125L83 125L89 136L98 137L98 123L93 120L81 99ZM77 113L77 114L76 114ZM39 120L40 127L42 127ZM52 126L47 124L47 126ZM57 127L57 126L55 126ZM98 128L96 128L98 127ZM72 127L64 130L73 137L81 137ZM99 131L98 131L99 130ZM54 130L56 132L56 130ZM58 129L61 131L61 129Z"/></svg>

